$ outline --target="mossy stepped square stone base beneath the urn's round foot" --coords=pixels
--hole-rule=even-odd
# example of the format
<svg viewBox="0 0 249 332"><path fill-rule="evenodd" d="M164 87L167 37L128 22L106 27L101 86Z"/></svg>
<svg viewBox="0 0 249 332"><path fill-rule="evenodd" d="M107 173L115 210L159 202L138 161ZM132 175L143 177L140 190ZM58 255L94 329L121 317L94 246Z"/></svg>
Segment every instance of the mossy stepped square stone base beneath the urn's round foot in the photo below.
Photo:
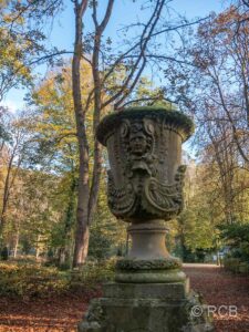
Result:
<svg viewBox="0 0 249 332"><path fill-rule="evenodd" d="M204 331L214 331L214 328L205 305L189 291L187 281L107 283L104 297L92 300L79 324L79 332Z"/></svg>

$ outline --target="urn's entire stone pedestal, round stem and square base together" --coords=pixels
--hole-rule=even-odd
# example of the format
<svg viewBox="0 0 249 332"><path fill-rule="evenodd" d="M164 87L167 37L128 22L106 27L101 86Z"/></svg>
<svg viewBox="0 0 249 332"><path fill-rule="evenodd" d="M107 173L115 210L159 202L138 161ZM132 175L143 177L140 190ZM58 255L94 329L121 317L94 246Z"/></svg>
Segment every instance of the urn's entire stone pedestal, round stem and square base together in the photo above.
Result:
<svg viewBox="0 0 249 332"><path fill-rule="evenodd" d="M132 249L117 261L115 282L91 302L79 332L214 331L180 261L165 247L166 231L159 220L129 226Z"/></svg>

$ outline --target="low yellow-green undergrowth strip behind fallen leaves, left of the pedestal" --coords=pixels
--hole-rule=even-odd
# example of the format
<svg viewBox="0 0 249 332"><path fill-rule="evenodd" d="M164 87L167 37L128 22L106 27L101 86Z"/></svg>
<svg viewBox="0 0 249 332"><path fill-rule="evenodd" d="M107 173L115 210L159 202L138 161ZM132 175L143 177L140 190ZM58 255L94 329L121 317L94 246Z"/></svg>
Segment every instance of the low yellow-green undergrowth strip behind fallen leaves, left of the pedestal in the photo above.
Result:
<svg viewBox="0 0 249 332"><path fill-rule="evenodd" d="M115 259L87 261L81 270L60 271L34 262L0 262L0 295L51 298L69 291L97 289L113 280Z"/></svg>

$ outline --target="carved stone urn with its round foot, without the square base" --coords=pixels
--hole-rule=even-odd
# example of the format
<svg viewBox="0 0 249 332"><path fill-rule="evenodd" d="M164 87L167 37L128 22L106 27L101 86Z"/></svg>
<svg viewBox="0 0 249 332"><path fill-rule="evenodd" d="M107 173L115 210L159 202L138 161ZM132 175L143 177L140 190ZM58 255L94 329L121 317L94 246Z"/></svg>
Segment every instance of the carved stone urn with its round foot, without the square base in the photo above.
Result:
<svg viewBox="0 0 249 332"><path fill-rule="evenodd" d="M185 278L183 272L176 273L179 262L166 250L163 221L183 209L181 144L193 127L180 112L135 107L106 116L97 128L97 139L108 152L110 209L132 224L132 249L117 263L117 281L169 282ZM141 269L143 273L134 273ZM152 269L168 273L146 274Z"/></svg>

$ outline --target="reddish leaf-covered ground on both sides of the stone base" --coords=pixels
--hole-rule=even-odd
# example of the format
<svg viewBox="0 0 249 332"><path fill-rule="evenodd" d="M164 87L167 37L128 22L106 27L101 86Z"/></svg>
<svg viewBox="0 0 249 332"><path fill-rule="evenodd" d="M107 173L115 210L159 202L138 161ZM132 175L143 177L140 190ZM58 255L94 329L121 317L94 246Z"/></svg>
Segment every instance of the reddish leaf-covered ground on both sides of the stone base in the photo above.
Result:
<svg viewBox="0 0 249 332"><path fill-rule="evenodd" d="M201 292L205 301L216 309L216 332L249 331L248 277L207 264L185 264L184 269L190 277L191 288ZM75 332L90 299L98 293L89 291L27 301L0 298L0 332ZM229 315L229 305L237 308L237 315L234 307Z"/></svg>

